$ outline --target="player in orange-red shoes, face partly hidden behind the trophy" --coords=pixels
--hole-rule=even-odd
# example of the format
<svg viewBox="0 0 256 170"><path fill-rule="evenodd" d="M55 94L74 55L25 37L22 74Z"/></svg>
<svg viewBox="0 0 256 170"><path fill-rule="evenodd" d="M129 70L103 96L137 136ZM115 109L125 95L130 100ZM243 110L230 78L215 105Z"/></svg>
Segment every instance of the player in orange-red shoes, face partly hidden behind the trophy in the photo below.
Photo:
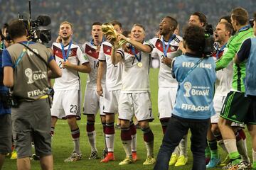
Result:
<svg viewBox="0 0 256 170"><path fill-rule="evenodd" d="M112 26L117 33L122 33L122 24L118 21L112 21ZM122 87L122 70L121 63L112 64L111 61L112 44L110 42L103 42L100 47L100 66L97 77L97 92L99 95L104 96L104 113L106 114L106 128L105 128L105 141L107 145L107 157L101 162L107 163L114 160L114 113L119 109L119 95ZM106 71L105 71L106 68ZM106 75L106 89L103 91L101 79ZM137 131L132 123L132 158L137 160Z"/></svg>

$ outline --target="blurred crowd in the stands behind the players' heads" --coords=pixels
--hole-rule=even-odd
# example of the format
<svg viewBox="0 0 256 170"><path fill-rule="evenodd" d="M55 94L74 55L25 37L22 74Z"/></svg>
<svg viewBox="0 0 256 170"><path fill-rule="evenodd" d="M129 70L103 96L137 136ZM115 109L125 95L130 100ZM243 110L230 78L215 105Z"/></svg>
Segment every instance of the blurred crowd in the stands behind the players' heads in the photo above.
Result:
<svg viewBox="0 0 256 170"><path fill-rule="evenodd" d="M173 16L180 23L181 28L186 25L188 16L194 11L206 14L208 23L215 24L220 16L228 15L232 8L241 6L252 15L254 0L32 0L32 18L45 14L50 16L52 40L58 35L61 21L70 21L75 28L75 41L90 40L91 24L95 21L102 23L118 20L123 28L130 29L134 23L142 23L146 28L146 38L154 36L158 30L161 18ZM1 26L17 18L18 13L28 18L28 0L0 0ZM182 29L181 29L182 31Z"/></svg>

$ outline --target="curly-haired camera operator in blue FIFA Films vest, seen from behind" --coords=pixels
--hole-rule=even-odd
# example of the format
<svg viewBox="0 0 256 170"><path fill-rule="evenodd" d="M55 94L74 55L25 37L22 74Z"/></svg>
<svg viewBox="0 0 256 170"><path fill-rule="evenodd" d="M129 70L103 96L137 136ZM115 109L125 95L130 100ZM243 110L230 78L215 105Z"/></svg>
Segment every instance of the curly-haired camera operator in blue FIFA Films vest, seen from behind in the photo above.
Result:
<svg viewBox="0 0 256 170"><path fill-rule="evenodd" d="M182 137L191 130L193 168L206 169L206 134L213 109L216 79L213 57L203 57L203 28L188 26L183 36L185 54L172 62L172 75L178 81L176 105L169 120L163 143L156 159L156 170L169 169L169 158ZM202 81L203 80L203 81Z"/></svg>

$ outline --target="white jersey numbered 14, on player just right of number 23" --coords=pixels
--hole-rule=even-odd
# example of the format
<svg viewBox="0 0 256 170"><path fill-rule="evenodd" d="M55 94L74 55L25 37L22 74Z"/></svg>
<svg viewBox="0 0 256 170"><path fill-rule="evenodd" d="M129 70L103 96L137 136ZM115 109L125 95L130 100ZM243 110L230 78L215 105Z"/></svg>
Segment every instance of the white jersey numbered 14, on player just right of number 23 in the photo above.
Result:
<svg viewBox="0 0 256 170"><path fill-rule="evenodd" d="M87 77L86 88L97 89L97 69L99 67L99 52L97 52L97 46L93 45L92 42L85 42L82 45L82 50L85 51L85 55L87 56L91 67L91 72ZM102 77L102 86L105 86L105 81L106 76L104 74Z"/></svg>

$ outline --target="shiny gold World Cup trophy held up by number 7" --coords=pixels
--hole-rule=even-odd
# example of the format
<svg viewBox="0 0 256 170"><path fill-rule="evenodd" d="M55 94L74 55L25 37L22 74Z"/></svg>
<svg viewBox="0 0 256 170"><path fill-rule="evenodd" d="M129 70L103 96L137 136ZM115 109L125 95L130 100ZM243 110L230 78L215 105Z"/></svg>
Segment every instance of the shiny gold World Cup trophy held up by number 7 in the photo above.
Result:
<svg viewBox="0 0 256 170"><path fill-rule="evenodd" d="M117 31L114 30L114 26L112 26L111 23L103 23L102 24L102 33L106 36L111 36L112 40L115 41L117 40ZM122 47L122 45L125 43L125 40L119 40L118 47Z"/></svg>

